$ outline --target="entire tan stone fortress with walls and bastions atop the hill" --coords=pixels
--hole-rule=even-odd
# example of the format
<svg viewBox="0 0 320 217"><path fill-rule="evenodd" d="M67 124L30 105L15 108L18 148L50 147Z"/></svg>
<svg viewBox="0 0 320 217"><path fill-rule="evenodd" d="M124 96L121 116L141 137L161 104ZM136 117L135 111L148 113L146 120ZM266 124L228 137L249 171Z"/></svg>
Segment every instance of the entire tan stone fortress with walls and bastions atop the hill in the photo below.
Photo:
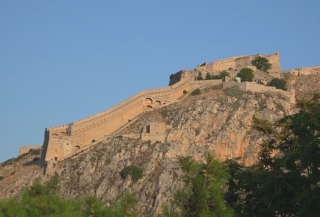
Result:
<svg viewBox="0 0 320 217"><path fill-rule="evenodd" d="M269 60L272 67L269 74L256 69L251 65L251 60L255 56L263 56ZM49 127L44 132L44 142L42 146L40 165L44 167L44 173L49 176L57 165L57 162L70 157L74 153L85 150L94 146L99 141L117 133L120 129L127 126L131 120L134 120L144 111L152 108L159 108L168 103L175 102L185 96L186 92L190 92L195 88L207 85L221 85L228 88L233 85L239 86L241 89L252 92L279 92L287 97L290 103L294 103L294 91L283 91L274 87L267 87L256 82L235 83L229 77L217 80L195 81L194 77L201 72L217 74L221 70L227 70L230 77L236 76L240 69L249 67L254 71L254 80L268 82L272 77L281 77L281 67L279 63L278 52L271 55L245 55L226 58L213 61L211 63L203 63L196 65L194 70L180 70L170 75L169 86L143 90L118 105L109 108L103 112L89 116L88 118L64 124L55 127ZM292 71L292 73L319 73L320 67L303 68L301 70ZM184 93L183 93L184 92ZM140 138L150 141L165 140L164 123L149 123L143 128L140 135L126 135L133 138ZM25 149L25 148L24 148Z"/></svg>

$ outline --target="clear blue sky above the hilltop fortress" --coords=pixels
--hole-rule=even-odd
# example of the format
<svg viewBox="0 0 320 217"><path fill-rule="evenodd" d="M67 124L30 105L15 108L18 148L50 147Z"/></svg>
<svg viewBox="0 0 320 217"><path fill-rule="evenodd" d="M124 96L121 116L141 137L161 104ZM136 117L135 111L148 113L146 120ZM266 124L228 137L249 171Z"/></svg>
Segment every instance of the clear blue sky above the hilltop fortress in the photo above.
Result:
<svg viewBox="0 0 320 217"><path fill-rule="evenodd" d="M0 0L0 162L46 127L166 86L181 68L279 51L320 65L319 0Z"/></svg>

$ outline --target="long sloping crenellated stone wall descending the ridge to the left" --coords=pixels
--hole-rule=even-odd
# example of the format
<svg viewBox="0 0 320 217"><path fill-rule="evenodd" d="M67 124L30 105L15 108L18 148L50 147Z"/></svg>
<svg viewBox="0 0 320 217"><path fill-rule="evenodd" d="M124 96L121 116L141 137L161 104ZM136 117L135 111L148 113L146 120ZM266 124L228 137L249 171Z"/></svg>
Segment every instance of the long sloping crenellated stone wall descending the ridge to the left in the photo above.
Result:
<svg viewBox="0 0 320 217"><path fill-rule="evenodd" d="M41 165L44 161L59 160L91 144L92 140L110 135L149 108L177 100L183 95L183 90L190 90L188 80L168 87L143 90L106 111L70 124L46 128Z"/></svg>

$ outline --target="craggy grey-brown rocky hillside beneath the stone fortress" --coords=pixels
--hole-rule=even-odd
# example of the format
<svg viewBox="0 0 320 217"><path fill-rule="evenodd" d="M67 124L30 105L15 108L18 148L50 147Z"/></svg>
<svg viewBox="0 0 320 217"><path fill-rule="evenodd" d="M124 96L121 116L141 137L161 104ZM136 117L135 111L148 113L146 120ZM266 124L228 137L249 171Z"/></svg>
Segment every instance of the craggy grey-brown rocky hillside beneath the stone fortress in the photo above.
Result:
<svg viewBox="0 0 320 217"><path fill-rule="evenodd" d="M290 77L290 82L301 96L310 91L309 88L320 87L320 77L315 76ZM182 173L177 156L201 159L202 153L209 150L221 160L240 156L244 164L251 164L263 139L251 129L253 115L278 119L290 113L294 113L293 106L280 94L206 87L199 95L187 95L176 103L143 113L109 141L59 162L63 195L71 198L95 194L110 203L123 191L131 191L139 199L136 210L141 216L155 216L180 186ZM120 135L140 133L145 123L155 121L166 124L164 143ZM4 179L0 181L0 197L19 194L34 177L41 176L37 166L25 165L30 161L32 159L1 166L0 176ZM119 174L131 164L143 170L138 181L129 176L123 179Z"/></svg>

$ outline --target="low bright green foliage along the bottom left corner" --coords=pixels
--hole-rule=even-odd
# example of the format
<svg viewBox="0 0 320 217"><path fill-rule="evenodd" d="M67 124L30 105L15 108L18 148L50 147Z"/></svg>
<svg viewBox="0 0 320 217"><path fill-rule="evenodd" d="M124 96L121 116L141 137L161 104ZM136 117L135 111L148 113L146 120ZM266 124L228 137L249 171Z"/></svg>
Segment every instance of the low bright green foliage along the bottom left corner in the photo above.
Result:
<svg viewBox="0 0 320 217"><path fill-rule="evenodd" d="M136 204L132 194L124 193L110 207L94 196L68 200L58 195L57 176L46 182L35 180L24 190L21 198L0 200L2 217L137 217L132 208Z"/></svg>

